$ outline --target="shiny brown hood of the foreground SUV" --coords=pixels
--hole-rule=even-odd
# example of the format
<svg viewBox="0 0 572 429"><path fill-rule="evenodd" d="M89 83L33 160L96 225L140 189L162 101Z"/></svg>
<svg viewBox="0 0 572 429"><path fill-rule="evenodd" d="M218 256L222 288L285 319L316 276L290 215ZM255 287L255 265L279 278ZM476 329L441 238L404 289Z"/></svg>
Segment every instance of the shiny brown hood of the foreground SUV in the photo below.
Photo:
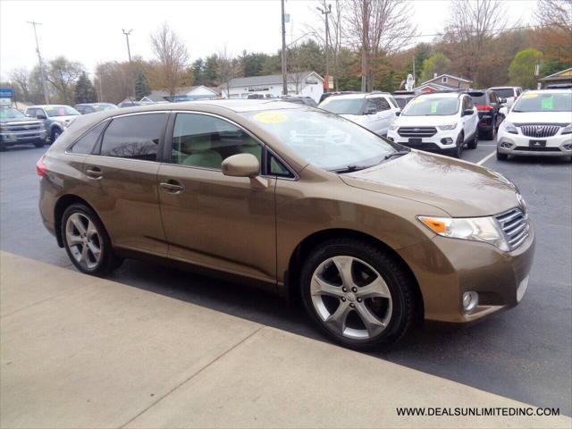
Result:
<svg viewBox="0 0 572 429"><path fill-rule="evenodd" d="M416 150L340 177L349 186L413 199L453 217L499 214L520 206L516 186L501 174Z"/></svg>

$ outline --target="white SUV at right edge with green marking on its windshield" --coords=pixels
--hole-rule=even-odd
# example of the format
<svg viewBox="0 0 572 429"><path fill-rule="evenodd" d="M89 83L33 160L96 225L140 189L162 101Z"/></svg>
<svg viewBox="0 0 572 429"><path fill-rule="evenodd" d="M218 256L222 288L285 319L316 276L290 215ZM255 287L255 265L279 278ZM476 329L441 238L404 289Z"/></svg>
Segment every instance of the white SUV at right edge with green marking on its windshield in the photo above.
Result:
<svg viewBox="0 0 572 429"><path fill-rule="evenodd" d="M499 127L497 158L572 156L572 90L525 91Z"/></svg>

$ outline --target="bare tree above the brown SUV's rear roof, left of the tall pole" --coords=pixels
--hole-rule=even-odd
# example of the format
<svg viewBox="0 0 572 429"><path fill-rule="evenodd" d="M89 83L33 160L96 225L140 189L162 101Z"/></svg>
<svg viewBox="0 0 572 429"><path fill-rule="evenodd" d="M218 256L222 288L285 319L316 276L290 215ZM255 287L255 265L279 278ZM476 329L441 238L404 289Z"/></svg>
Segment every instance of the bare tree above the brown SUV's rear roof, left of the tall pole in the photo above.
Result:
<svg viewBox="0 0 572 429"><path fill-rule="evenodd" d="M166 22L151 35L151 46L160 65L163 86L173 97L189 62L187 46Z"/></svg>

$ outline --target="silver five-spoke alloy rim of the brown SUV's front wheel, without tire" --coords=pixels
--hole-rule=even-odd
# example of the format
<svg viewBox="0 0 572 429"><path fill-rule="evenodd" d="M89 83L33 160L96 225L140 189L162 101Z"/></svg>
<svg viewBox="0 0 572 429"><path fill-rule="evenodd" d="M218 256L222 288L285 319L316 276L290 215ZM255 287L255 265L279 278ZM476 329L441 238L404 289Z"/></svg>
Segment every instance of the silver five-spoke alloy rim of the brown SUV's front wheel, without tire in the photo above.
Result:
<svg viewBox="0 0 572 429"><path fill-rule="evenodd" d="M310 296L324 326L352 340L379 336L391 320L391 292L386 282L357 257L330 257L318 265Z"/></svg>

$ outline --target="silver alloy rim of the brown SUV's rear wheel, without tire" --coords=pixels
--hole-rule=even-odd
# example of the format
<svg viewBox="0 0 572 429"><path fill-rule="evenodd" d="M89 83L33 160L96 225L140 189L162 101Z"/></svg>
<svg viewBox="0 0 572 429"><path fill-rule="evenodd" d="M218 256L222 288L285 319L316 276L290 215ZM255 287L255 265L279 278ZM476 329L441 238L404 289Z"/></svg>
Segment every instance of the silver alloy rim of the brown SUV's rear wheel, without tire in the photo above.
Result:
<svg viewBox="0 0 572 429"><path fill-rule="evenodd" d="M73 213L65 223L65 240L71 256L86 270L93 270L102 257L102 238L86 214Z"/></svg>

